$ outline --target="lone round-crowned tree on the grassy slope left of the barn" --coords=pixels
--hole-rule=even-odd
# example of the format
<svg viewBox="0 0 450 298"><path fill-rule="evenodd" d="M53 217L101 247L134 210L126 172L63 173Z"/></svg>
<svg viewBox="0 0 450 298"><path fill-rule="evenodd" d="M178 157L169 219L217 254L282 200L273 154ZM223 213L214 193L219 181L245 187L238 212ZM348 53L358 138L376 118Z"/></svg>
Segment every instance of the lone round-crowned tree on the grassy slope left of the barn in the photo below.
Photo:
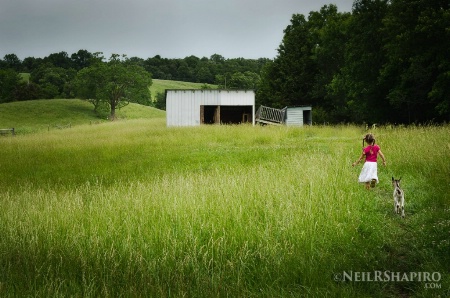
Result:
<svg viewBox="0 0 450 298"><path fill-rule="evenodd" d="M102 104L109 107L110 120L116 119L116 109L130 102L148 104L151 84L151 76L144 68L117 54L111 55L108 62L80 70L74 83L77 96L89 100L95 109Z"/></svg>

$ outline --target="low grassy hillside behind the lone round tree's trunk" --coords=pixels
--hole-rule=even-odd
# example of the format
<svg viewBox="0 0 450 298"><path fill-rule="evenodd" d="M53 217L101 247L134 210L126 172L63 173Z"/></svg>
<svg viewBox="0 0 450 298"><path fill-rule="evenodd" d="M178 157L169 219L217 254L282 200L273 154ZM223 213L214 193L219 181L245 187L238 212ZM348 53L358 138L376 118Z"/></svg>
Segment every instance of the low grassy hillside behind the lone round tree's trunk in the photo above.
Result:
<svg viewBox="0 0 450 298"><path fill-rule="evenodd" d="M130 103L116 112L118 119L164 118L164 111ZM17 134L106 122L92 104L80 99L41 99L0 104L0 128Z"/></svg>

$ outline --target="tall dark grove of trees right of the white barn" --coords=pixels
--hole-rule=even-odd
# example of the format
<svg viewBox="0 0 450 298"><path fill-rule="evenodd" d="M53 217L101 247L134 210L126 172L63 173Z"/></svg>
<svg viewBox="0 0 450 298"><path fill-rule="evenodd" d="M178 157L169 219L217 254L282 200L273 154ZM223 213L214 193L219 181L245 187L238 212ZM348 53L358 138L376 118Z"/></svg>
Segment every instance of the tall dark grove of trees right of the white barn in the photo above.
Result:
<svg viewBox="0 0 450 298"><path fill-rule="evenodd" d="M450 120L450 2L356 0L296 14L261 75L269 106L312 105L317 122Z"/></svg>

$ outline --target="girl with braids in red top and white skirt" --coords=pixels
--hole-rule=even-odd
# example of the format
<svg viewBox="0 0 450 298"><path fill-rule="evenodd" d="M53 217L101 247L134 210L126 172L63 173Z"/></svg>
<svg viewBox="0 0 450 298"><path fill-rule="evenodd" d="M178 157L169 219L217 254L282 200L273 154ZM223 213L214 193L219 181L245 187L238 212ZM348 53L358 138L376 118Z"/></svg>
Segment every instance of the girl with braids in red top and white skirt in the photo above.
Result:
<svg viewBox="0 0 450 298"><path fill-rule="evenodd" d="M357 165L364 156L366 157L358 182L365 183L366 189L370 189L371 187L375 187L375 184L378 183L377 156L380 155L384 166L386 166L386 159L380 150L380 146L375 145L375 138L371 133L365 135L363 147L364 141L366 141L368 146L363 148L361 156L352 164L352 167Z"/></svg>

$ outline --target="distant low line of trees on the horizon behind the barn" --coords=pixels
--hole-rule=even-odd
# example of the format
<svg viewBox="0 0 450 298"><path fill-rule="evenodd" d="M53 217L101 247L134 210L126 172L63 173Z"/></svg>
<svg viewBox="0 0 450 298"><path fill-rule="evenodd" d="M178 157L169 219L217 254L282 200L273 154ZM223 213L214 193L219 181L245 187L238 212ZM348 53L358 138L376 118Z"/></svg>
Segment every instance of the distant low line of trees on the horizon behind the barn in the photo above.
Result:
<svg viewBox="0 0 450 298"><path fill-rule="evenodd" d="M117 54L113 54L117 60ZM156 55L152 58L128 58L122 62L145 69L153 79L175 80L216 84L219 88L256 89L259 73L270 59L225 59L214 54L210 58L189 56L183 59L168 59ZM67 52L50 54L44 58L27 57L20 60L15 54L7 54L0 60L0 103L32 100L38 98L74 98L73 80L77 73L98 62L107 63L103 53L79 50L69 56ZM23 82L19 73L29 73ZM6 88L6 86L8 86ZM144 104L152 105L147 101Z"/></svg>

